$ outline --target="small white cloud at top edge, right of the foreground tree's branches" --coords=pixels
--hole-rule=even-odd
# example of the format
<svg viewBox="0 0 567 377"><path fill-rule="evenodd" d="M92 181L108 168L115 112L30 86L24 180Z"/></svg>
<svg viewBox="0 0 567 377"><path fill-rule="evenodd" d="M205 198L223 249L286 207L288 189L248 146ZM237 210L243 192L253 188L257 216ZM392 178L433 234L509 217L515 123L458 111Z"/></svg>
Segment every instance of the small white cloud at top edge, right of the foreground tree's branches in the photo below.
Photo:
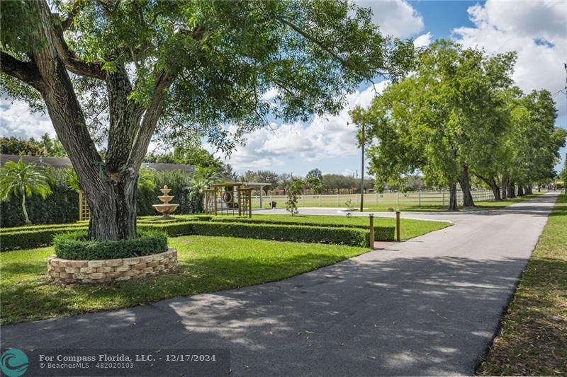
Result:
<svg viewBox="0 0 567 377"><path fill-rule="evenodd" d="M383 34L409 37L423 29L423 18L405 0L356 1L362 8L371 8L372 21Z"/></svg>

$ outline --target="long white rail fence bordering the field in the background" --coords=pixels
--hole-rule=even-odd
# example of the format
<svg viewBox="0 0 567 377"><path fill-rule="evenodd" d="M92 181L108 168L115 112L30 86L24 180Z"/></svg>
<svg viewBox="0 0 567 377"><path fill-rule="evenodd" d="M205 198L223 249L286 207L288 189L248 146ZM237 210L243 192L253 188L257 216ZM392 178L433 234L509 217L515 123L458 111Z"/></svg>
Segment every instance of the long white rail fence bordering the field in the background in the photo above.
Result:
<svg viewBox="0 0 567 377"><path fill-rule="evenodd" d="M494 199L490 190L471 191L475 202ZM264 208L269 208L270 202L276 202L276 207L285 207L286 195L264 195ZM463 193L457 192L457 202L463 204ZM427 207L449 205L449 192L384 192L379 194L373 192L364 194L364 207ZM260 207L259 195L252 196L252 207ZM335 195L299 195L298 207L360 207L360 194L335 194Z"/></svg>

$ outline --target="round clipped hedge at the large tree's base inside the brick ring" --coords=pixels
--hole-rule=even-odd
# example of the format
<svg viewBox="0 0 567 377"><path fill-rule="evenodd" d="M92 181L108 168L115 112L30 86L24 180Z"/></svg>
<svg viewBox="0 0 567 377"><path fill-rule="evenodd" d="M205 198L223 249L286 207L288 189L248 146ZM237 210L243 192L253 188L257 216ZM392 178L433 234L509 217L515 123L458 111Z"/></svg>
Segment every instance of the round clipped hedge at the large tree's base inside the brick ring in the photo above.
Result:
<svg viewBox="0 0 567 377"><path fill-rule="evenodd" d="M70 260L101 260L138 257L167 251L167 235L161 232L139 232L130 240L103 242L87 239L85 231L59 233L53 237L55 255Z"/></svg>

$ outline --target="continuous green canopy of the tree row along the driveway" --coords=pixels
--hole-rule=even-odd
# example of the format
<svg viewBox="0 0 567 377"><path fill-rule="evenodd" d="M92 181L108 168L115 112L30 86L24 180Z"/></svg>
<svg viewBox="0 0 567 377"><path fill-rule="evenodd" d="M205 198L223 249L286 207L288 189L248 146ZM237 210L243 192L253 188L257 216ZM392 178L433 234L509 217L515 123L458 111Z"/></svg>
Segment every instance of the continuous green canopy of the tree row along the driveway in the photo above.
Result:
<svg viewBox="0 0 567 377"><path fill-rule="evenodd" d="M514 53L489 56L446 40L418 58L415 72L393 83L370 108L352 112L369 127L371 173L381 182L421 171L427 185L456 184L471 204L470 176L498 175L517 183L549 175L564 134L554 127L547 91L512 87ZM486 179L488 184L488 178Z"/></svg>

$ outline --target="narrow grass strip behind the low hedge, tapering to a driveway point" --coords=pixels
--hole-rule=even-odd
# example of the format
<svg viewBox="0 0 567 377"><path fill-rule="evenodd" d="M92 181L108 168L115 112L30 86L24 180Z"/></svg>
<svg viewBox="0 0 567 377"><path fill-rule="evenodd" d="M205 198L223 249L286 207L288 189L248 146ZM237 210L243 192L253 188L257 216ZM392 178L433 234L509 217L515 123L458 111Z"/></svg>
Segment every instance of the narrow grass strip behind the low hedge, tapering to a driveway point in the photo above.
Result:
<svg viewBox="0 0 567 377"><path fill-rule="evenodd" d="M367 217L359 216L305 216L305 215L270 215L257 214L252 215L252 219L271 219L281 221L283 223L300 223L309 221L313 224L340 224L340 225L360 225L369 226ZM438 231L439 229L450 226L451 223L444 221L425 221L413 219L400 219L400 237L402 240L408 240L425 233ZM374 226L395 226L395 219L385 217L374 217Z"/></svg>

